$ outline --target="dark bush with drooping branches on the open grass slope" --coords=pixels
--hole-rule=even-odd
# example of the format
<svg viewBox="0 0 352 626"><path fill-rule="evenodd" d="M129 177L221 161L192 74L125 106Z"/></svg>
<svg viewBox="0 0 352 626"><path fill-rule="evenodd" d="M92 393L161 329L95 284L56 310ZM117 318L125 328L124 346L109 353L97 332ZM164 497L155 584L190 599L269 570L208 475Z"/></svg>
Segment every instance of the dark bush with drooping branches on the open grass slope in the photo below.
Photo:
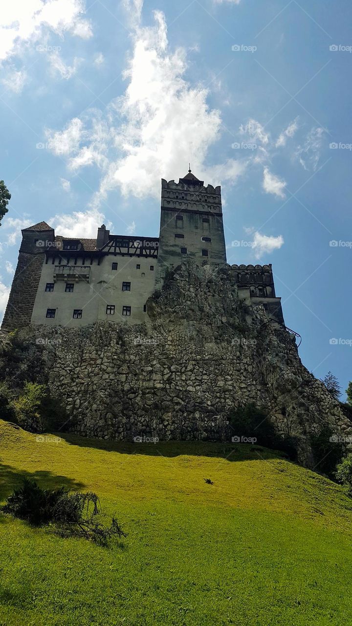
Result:
<svg viewBox="0 0 352 626"><path fill-rule="evenodd" d="M60 536L83 537L99 545L107 545L113 536L127 536L114 517L110 527L101 523L100 500L91 491L41 489L36 481L25 479L0 510L33 526L54 525Z"/></svg>

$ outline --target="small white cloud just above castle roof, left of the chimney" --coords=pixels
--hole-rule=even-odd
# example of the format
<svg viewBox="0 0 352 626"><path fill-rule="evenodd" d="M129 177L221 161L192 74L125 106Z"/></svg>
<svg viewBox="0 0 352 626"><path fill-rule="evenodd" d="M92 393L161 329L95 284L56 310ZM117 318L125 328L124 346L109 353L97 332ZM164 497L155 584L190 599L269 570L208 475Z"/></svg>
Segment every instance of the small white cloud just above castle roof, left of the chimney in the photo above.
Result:
<svg viewBox="0 0 352 626"><path fill-rule="evenodd" d="M95 239L98 227L103 222L104 215L95 209L75 211L71 215L54 215L49 220L56 235L83 239Z"/></svg>

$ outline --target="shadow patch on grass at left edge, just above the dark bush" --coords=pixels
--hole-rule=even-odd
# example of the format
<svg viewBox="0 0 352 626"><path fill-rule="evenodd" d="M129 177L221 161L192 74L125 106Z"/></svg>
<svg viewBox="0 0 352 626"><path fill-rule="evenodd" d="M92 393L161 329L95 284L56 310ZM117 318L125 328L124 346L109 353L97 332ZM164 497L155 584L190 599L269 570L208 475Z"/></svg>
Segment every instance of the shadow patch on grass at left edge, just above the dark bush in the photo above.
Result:
<svg viewBox="0 0 352 626"><path fill-rule="evenodd" d="M19 487L23 483L24 478L35 480L39 486L47 489L63 486L67 489L79 490L85 486L72 478L53 474L51 471L39 470L30 472L0 463L0 501L5 500L16 487Z"/></svg>

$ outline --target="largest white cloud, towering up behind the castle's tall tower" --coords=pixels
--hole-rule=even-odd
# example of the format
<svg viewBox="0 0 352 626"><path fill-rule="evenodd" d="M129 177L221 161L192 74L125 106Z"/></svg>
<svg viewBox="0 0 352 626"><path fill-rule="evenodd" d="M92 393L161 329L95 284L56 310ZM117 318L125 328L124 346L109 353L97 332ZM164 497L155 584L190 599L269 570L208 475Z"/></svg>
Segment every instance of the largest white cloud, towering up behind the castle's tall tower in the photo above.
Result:
<svg viewBox="0 0 352 626"><path fill-rule="evenodd" d="M125 196L158 197L160 178L173 178L175 172L182 177L189 160L205 183L234 182L246 167L233 159L205 166L209 147L219 138L220 113L207 105L207 89L185 80L186 53L168 48L163 13L155 11L154 18L152 27L135 27L125 93L105 113L89 111L63 131L47 133L53 151L67 157L71 170L93 164L101 169L92 207L115 188ZM215 174L217 180L209 179Z"/></svg>

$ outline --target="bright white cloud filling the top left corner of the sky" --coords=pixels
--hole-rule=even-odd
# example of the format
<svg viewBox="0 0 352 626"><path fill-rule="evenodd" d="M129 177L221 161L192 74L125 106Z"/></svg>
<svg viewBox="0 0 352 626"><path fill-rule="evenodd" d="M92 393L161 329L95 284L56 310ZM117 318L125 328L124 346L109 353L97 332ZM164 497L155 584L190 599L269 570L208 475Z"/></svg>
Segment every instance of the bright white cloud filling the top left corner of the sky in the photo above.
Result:
<svg viewBox="0 0 352 626"><path fill-rule="evenodd" d="M43 39L48 29L63 36L91 36L89 24L81 19L84 0L9 0L1 6L0 61L23 53L23 43ZM89 28L88 28L89 27Z"/></svg>

